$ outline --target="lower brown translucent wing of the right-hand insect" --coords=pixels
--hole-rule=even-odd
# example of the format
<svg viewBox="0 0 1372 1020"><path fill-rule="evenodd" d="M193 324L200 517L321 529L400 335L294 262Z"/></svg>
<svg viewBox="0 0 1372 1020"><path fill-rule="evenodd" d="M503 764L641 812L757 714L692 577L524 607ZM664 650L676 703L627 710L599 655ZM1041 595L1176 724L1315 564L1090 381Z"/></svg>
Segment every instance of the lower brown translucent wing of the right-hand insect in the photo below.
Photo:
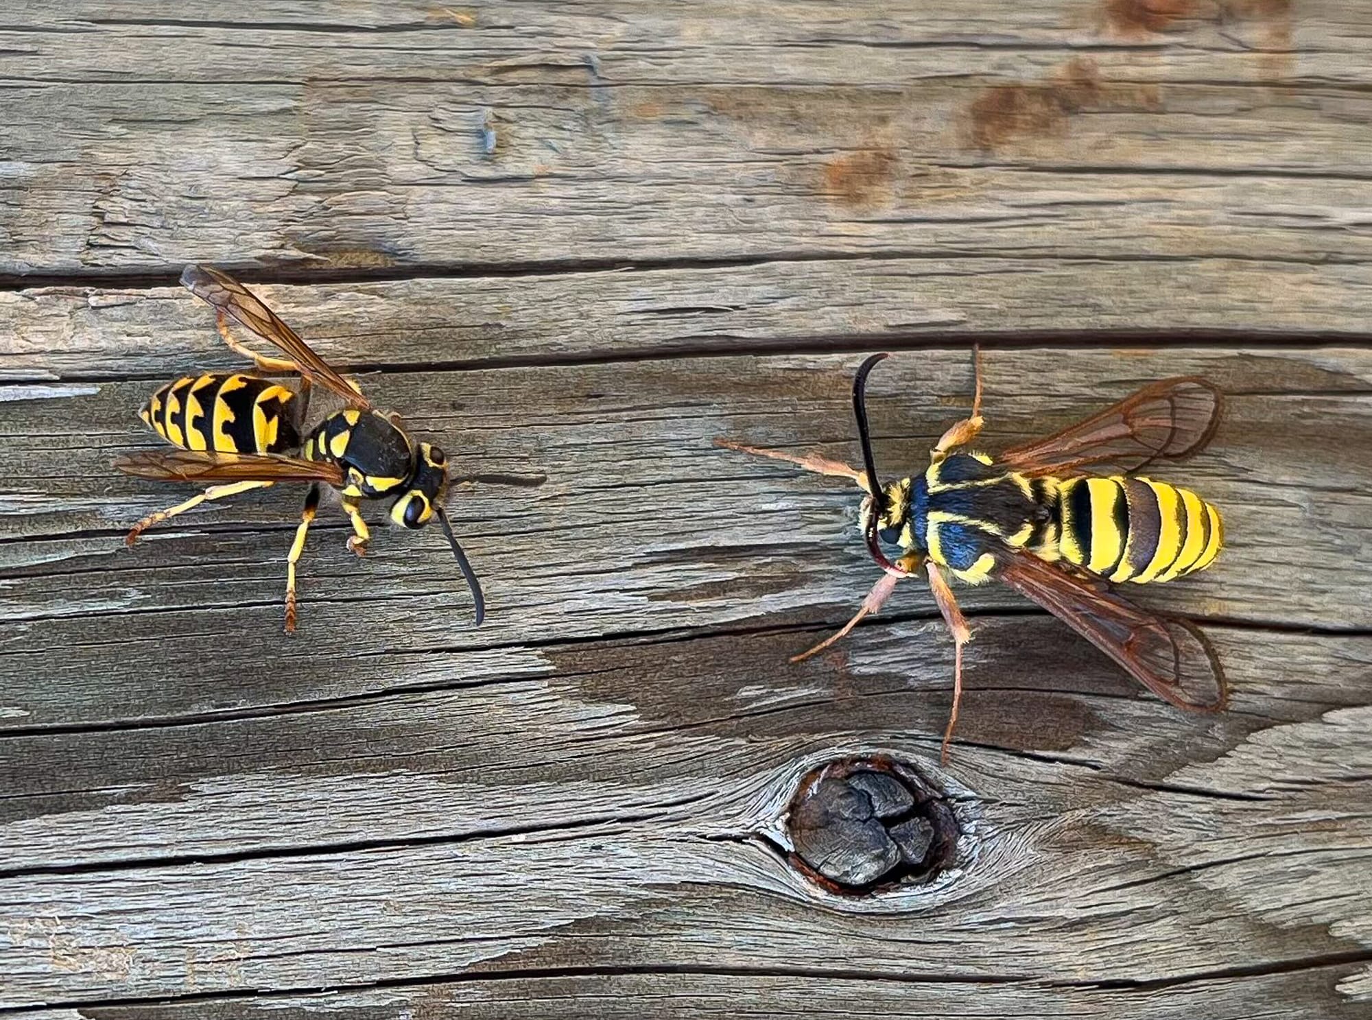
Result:
<svg viewBox="0 0 1372 1020"><path fill-rule="evenodd" d="M1218 712L1228 684L1210 642L1191 624L1146 613L1032 552L1007 551L999 579L1037 602L1179 709Z"/></svg>

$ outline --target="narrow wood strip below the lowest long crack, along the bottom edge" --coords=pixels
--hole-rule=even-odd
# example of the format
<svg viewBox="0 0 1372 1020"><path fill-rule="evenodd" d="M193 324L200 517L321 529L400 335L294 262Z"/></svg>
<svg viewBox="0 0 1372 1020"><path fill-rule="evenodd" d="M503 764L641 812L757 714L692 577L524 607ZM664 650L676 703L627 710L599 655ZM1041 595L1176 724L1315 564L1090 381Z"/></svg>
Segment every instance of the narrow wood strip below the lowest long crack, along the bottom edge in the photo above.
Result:
<svg viewBox="0 0 1372 1020"><path fill-rule="evenodd" d="M1158 988L1092 988L1058 982L919 982L863 977L702 973L612 973L545 977L472 976L461 982L320 994L199 998L191 1002L23 1010L25 1020L391 1020L391 1017L724 1017L741 1004L766 1016L886 1017L1109 1016L1120 1020L1303 1020L1365 1016L1336 993L1356 965L1318 967L1257 977L1214 976Z"/></svg>

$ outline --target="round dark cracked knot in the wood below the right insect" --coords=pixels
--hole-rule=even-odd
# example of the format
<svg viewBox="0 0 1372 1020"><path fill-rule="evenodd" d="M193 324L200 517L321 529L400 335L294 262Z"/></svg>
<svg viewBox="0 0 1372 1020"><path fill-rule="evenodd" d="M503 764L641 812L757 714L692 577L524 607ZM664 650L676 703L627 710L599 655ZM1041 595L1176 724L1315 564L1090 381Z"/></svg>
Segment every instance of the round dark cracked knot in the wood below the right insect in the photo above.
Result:
<svg viewBox="0 0 1372 1020"><path fill-rule="evenodd" d="M885 755L812 769L785 818L792 864L836 892L929 882L958 846L958 818L914 766Z"/></svg>

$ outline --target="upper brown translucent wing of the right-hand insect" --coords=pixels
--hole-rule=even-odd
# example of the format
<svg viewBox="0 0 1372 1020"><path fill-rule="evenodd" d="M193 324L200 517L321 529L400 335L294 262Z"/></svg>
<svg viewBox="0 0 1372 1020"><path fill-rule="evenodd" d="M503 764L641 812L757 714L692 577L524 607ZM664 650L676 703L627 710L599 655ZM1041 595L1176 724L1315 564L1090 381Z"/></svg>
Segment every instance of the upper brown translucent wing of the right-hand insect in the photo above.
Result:
<svg viewBox="0 0 1372 1020"><path fill-rule="evenodd" d="M1220 424L1220 391L1206 380L1165 378L1047 439L1011 447L996 461L1026 474L1070 474L1095 463L1136 472L1200 450Z"/></svg>

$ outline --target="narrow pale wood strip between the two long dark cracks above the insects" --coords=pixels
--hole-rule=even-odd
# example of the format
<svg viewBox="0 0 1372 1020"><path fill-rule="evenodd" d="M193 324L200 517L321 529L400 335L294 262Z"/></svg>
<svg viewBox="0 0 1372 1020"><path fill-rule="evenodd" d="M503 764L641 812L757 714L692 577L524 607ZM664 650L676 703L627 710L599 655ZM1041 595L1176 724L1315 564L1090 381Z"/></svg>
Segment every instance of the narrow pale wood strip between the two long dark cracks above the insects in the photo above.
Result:
<svg viewBox="0 0 1372 1020"><path fill-rule="evenodd" d="M1349 295L1372 292L1372 270L904 258L254 289L331 361L399 369L993 341L1025 332L1040 341L1080 330L1168 339L1200 329L1242 343L1244 328L1361 337L1365 300ZM0 381L173 378L241 363L209 308L180 287L0 292ZM1364 381L1323 378L1320 388Z"/></svg>

